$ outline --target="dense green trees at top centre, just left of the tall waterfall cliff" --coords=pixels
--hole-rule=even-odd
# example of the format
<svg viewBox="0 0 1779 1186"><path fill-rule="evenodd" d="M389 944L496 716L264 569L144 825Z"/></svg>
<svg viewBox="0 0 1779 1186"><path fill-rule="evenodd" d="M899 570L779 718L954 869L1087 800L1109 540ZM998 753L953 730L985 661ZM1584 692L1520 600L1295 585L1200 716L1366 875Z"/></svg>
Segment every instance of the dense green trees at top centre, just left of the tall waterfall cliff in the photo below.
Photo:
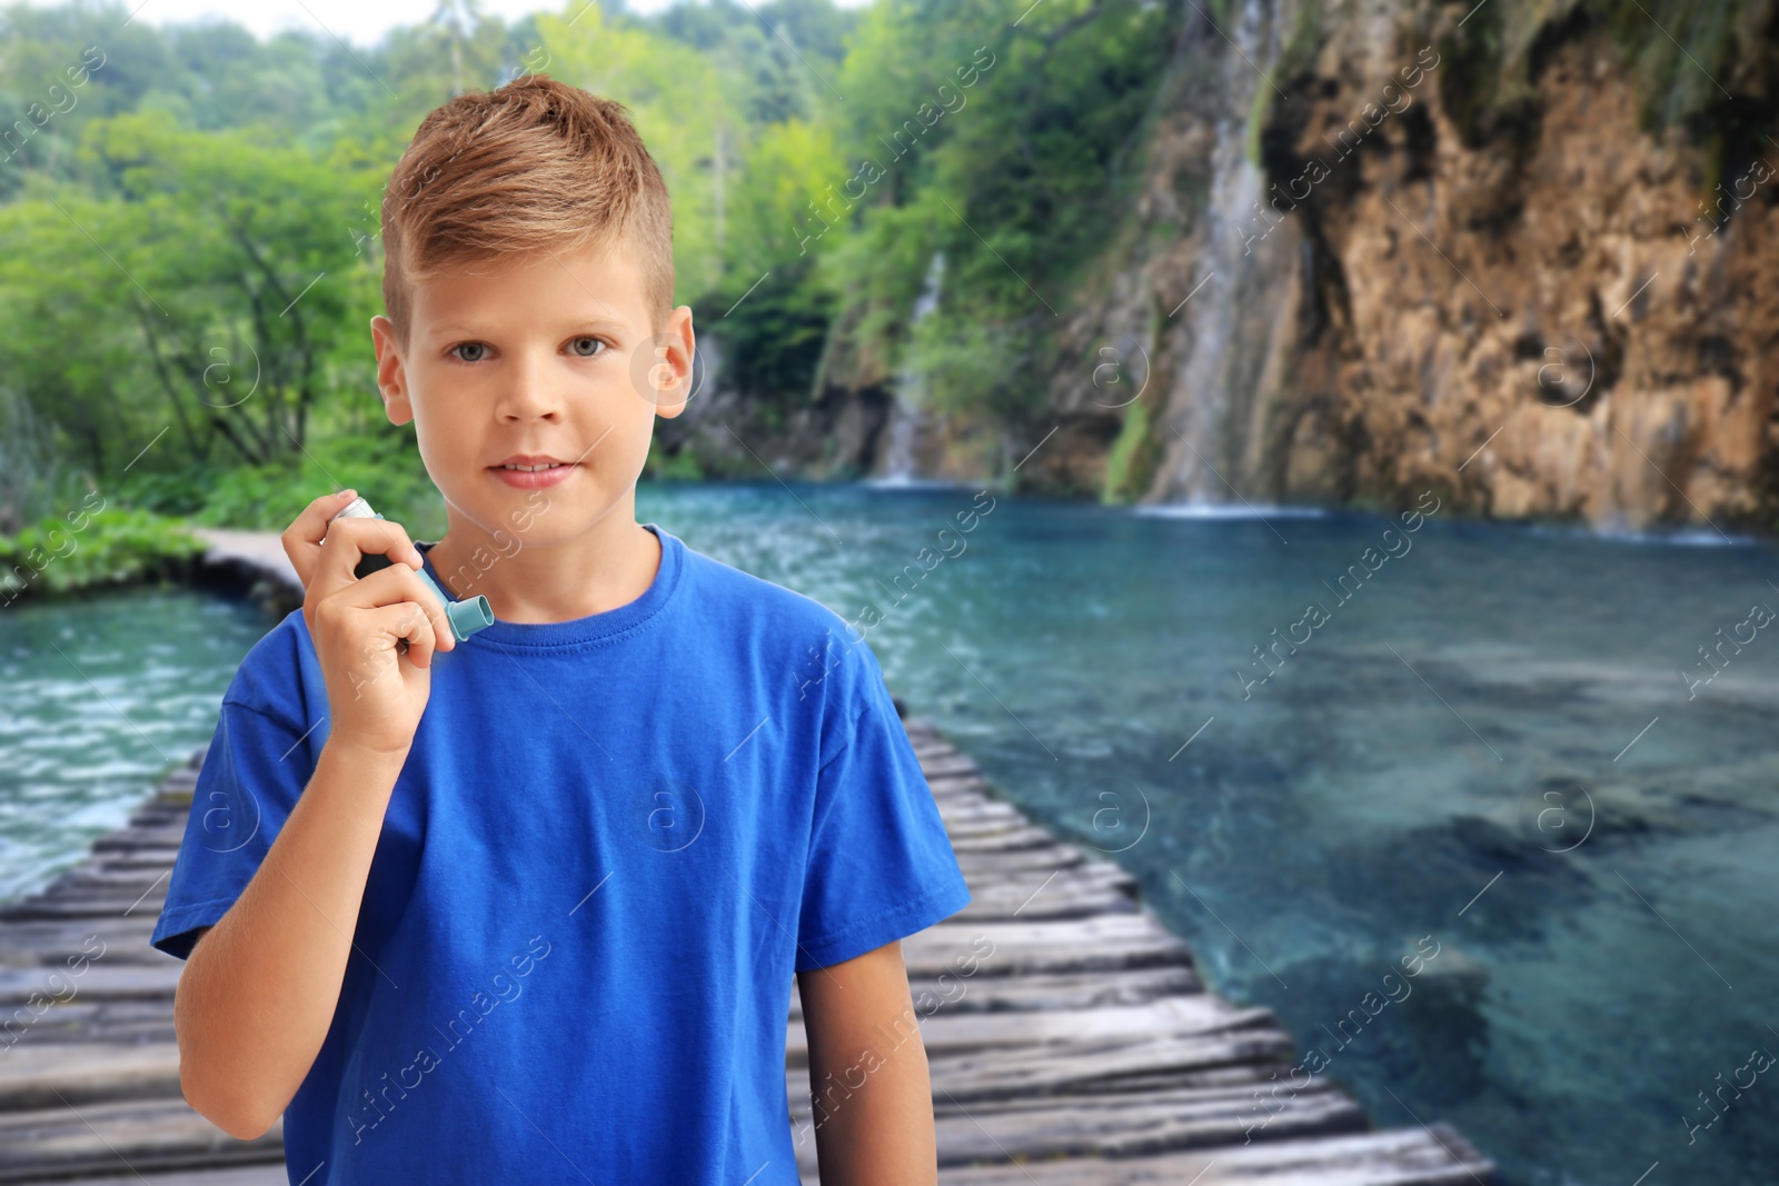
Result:
<svg viewBox="0 0 1779 1186"><path fill-rule="evenodd" d="M822 270L841 293L836 317L857 357L893 372L888 359L916 350L907 311L932 252L945 251L936 318L971 327L946 334L941 370L962 379L966 343L996 350L970 363L978 373L1005 381L1042 368L1044 334L1032 322L1069 304L1076 268L1121 219L1115 164L1160 80L1171 20L1165 5L1117 0L1046 4L1018 27L987 0L866 11L840 84L859 96L845 124L849 160L873 160L888 176L861 204L859 233L829 249ZM936 116L941 84L962 103ZM918 139L907 133L929 119ZM939 402L957 397L989 416L1023 402L1000 388L971 400L955 384L948 397L946 386L941 375Z"/></svg>

